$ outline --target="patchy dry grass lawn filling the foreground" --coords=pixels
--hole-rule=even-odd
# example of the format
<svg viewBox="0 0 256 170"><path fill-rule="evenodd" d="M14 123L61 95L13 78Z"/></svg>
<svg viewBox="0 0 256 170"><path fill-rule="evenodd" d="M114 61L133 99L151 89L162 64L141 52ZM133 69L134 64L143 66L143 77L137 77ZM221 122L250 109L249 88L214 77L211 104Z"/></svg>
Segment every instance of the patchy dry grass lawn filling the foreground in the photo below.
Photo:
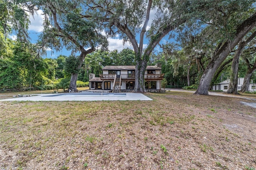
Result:
<svg viewBox="0 0 256 170"><path fill-rule="evenodd" d="M256 169L256 95L146 95L0 101L0 169Z"/></svg>

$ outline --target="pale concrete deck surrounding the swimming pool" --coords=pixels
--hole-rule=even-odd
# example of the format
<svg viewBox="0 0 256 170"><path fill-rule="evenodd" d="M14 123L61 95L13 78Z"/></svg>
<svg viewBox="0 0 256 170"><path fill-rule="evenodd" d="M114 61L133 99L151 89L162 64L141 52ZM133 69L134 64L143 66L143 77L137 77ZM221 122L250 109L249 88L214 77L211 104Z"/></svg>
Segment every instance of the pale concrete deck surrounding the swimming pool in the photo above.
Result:
<svg viewBox="0 0 256 170"><path fill-rule="evenodd" d="M86 95L68 95L70 93L56 94L37 94L29 97L14 97L11 99L2 99L0 101L147 101L152 100L141 93L126 93L126 96L86 96Z"/></svg>

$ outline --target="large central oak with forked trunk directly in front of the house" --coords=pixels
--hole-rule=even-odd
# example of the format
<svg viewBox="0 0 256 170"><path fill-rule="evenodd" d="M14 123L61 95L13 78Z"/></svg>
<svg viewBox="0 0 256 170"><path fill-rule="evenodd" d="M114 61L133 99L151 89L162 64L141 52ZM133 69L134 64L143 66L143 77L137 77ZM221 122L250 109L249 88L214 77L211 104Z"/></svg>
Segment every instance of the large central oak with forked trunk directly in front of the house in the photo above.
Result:
<svg viewBox="0 0 256 170"><path fill-rule="evenodd" d="M92 15L98 18L108 35L121 34L124 42L132 44L135 52L135 92L146 92L144 73L150 54L162 38L186 22L189 4L186 0L92 0L88 3ZM155 17L150 27L152 12L155 12ZM145 40L147 44L144 48Z"/></svg>

